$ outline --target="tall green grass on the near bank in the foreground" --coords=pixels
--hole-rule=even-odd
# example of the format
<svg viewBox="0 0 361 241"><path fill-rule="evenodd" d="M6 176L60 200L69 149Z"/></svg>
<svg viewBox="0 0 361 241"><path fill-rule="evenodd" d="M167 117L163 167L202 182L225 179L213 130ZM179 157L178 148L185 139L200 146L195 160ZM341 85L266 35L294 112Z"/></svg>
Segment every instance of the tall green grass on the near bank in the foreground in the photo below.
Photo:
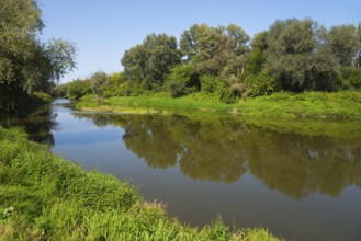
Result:
<svg viewBox="0 0 361 241"><path fill-rule="evenodd" d="M111 175L86 172L0 127L0 240L278 240L264 229L202 229Z"/></svg>

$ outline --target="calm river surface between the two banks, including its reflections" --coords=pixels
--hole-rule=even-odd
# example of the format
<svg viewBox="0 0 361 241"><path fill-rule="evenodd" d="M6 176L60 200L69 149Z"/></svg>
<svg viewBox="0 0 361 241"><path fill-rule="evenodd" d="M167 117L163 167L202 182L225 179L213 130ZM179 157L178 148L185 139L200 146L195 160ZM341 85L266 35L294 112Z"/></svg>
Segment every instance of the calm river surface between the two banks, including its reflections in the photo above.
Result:
<svg viewBox="0 0 361 241"><path fill-rule="evenodd" d="M88 170L132 181L192 226L222 216L287 240L361 240L357 123L318 120L321 135L302 135L230 117L97 114L61 103L2 123ZM351 130L331 137L342 136L327 131L338 125Z"/></svg>

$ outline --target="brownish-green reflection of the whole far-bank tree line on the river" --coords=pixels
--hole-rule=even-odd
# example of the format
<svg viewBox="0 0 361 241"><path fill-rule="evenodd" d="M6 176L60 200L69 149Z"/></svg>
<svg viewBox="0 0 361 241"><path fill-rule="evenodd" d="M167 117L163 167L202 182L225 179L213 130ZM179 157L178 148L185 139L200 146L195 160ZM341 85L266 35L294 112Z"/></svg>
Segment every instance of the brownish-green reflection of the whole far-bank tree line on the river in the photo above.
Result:
<svg viewBox="0 0 361 241"><path fill-rule="evenodd" d="M309 120L309 128L303 123L302 129L313 130L311 135L236 118L75 115L100 127L122 127L126 147L148 167L179 165L193 180L233 183L249 172L269 188L295 199L317 192L338 196L350 185L361 188L361 138L349 130L358 129L354 123L346 124L342 136L342 125L327 120ZM290 125L297 129L295 123ZM315 126L325 125L330 126L329 133L320 129L317 134Z"/></svg>

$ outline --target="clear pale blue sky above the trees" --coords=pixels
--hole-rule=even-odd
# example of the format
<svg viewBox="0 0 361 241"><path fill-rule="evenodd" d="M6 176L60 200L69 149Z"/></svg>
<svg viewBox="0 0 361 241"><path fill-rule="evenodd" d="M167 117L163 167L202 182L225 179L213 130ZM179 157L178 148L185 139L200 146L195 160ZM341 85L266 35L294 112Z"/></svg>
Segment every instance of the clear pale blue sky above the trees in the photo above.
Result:
<svg viewBox="0 0 361 241"><path fill-rule="evenodd" d="M38 0L46 27L43 38L61 37L78 48L78 68L61 82L103 70L122 71L124 51L147 34L178 39L194 23L234 23L248 35L268 30L275 20L311 18L330 27L361 22L361 0Z"/></svg>

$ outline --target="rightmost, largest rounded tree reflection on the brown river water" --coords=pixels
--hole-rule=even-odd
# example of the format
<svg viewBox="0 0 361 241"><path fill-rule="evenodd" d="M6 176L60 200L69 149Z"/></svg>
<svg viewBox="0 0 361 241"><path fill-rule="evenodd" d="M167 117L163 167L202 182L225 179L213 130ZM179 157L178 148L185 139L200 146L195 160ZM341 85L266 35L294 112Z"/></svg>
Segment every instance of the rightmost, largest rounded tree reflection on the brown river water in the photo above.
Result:
<svg viewBox="0 0 361 241"><path fill-rule="evenodd" d="M337 196L346 186L359 185L359 140L271 131L260 141L262 134L250 138L247 153L250 172L267 186L302 198L315 192Z"/></svg>

